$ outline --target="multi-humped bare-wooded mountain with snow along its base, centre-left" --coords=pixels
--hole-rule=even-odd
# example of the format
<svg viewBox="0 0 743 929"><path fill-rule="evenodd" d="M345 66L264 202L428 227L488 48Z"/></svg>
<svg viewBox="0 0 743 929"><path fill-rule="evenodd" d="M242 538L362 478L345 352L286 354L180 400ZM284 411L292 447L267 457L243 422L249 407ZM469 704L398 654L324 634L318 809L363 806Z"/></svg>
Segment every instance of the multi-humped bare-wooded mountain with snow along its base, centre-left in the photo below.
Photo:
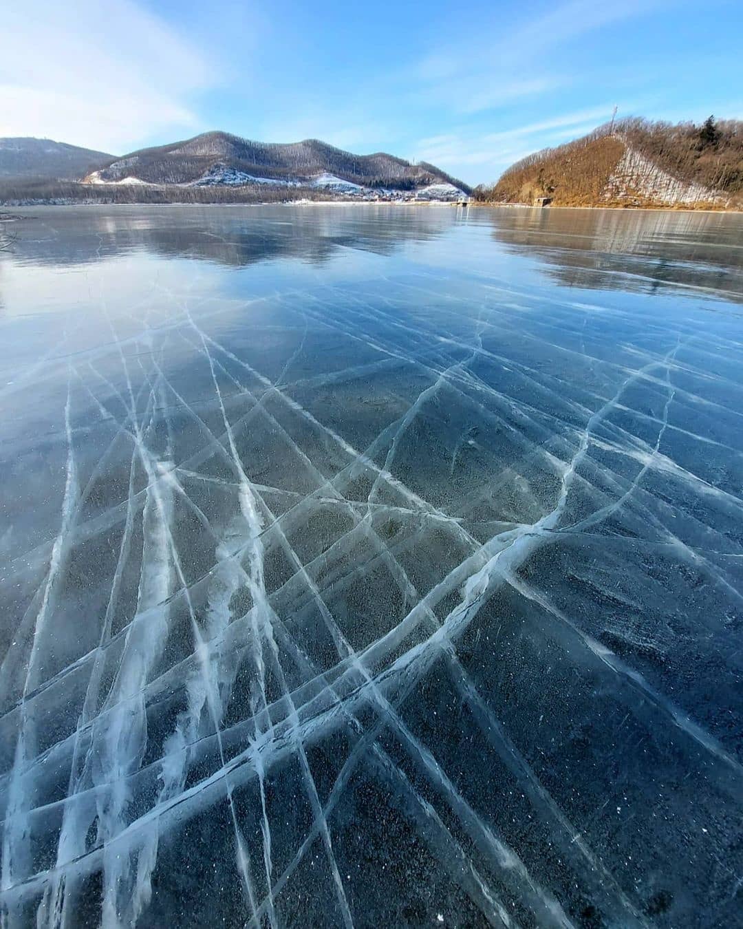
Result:
<svg viewBox="0 0 743 929"><path fill-rule="evenodd" d="M385 152L355 155L310 138L287 145L254 142L225 132L133 151L85 177L88 184L251 185L314 187L353 195L360 189L469 192L433 164L411 164ZM449 190L449 188L456 189Z"/></svg>

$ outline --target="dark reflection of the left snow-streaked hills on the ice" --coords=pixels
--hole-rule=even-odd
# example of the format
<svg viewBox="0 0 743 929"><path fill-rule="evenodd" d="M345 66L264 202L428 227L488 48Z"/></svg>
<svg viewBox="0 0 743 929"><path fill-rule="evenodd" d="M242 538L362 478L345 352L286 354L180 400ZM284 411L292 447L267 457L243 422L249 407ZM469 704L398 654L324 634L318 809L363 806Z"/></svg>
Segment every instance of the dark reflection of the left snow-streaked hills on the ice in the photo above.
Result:
<svg viewBox="0 0 743 929"><path fill-rule="evenodd" d="M345 205L79 207L24 211L15 254L42 265L84 264L143 250L239 268L272 258L322 264L339 248L388 255L450 227L447 208ZM226 229L228 230L226 232Z"/></svg>

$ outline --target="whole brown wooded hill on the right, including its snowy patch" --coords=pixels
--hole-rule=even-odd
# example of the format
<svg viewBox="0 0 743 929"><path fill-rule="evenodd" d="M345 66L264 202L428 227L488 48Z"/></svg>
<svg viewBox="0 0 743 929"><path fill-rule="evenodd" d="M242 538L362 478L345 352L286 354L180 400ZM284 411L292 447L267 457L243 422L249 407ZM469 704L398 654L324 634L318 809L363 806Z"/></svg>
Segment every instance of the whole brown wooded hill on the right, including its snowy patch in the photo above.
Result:
<svg viewBox="0 0 743 929"><path fill-rule="evenodd" d="M743 208L743 122L629 118L513 164L477 200L555 206Z"/></svg>

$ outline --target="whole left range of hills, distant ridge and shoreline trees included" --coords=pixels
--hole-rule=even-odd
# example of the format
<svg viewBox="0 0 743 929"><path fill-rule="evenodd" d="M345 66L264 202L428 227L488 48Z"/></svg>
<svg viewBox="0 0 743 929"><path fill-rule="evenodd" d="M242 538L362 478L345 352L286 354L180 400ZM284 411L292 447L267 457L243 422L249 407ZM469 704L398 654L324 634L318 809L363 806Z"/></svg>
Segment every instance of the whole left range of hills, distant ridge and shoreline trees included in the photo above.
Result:
<svg viewBox="0 0 743 929"><path fill-rule="evenodd" d="M280 145L208 132L123 158L41 139L4 141L29 143L8 144L7 170L0 171L0 203L15 205L460 201L470 192L433 164L411 164L385 152L355 155L317 139ZM52 164L53 146L69 156L63 167ZM46 151L46 162L34 151ZM77 160L71 152L79 153Z"/></svg>

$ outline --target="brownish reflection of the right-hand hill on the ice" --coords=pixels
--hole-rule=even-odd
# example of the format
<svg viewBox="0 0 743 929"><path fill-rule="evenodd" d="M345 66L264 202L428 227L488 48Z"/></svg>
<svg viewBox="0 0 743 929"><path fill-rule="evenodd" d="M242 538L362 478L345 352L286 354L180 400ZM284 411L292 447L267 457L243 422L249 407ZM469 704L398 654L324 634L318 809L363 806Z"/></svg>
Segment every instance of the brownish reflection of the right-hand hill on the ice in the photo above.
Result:
<svg viewBox="0 0 743 929"><path fill-rule="evenodd" d="M539 255L557 281L652 293L666 286L720 290L738 300L743 250L736 216L628 210L497 211L493 235Z"/></svg>

